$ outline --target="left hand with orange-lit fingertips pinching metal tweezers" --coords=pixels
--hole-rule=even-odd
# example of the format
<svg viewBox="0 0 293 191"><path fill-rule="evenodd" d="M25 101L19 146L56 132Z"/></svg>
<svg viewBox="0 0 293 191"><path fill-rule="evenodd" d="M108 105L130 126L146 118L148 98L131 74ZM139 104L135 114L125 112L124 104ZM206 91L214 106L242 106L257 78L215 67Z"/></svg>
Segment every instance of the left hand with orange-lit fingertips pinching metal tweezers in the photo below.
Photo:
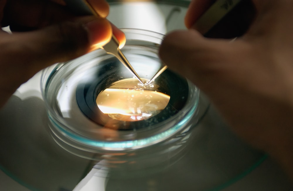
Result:
<svg viewBox="0 0 293 191"><path fill-rule="evenodd" d="M0 1L0 108L14 91L41 69L79 57L110 40L120 45L124 34L105 17L105 0L88 0L100 15L76 16L62 0Z"/></svg>

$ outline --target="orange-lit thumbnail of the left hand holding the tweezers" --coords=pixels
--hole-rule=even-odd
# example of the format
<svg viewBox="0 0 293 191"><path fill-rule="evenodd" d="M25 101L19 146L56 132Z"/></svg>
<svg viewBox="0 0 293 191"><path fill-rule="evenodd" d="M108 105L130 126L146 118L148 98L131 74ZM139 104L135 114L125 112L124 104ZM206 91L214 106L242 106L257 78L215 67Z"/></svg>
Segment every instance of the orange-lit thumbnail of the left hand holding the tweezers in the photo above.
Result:
<svg viewBox="0 0 293 191"><path fill-rule="evenodd" d="M103 46L110 41L112 35L111 24L107 19L97 18L85 24L91 45Z"/></svg>

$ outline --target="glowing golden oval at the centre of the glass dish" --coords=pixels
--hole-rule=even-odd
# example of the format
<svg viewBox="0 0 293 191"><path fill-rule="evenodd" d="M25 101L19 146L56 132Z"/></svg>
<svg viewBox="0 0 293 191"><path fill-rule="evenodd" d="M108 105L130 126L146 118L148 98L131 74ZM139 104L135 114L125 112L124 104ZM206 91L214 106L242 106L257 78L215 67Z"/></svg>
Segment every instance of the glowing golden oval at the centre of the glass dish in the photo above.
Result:
<svg viewBox="0 0 293 191"><path fill-rule="evenodd" d="M113 83L96 98L98 108L109 117L121 121L140 121L152 117L169 103L170 96L158 91L159 85L147 86L137 79Z"/></svg>

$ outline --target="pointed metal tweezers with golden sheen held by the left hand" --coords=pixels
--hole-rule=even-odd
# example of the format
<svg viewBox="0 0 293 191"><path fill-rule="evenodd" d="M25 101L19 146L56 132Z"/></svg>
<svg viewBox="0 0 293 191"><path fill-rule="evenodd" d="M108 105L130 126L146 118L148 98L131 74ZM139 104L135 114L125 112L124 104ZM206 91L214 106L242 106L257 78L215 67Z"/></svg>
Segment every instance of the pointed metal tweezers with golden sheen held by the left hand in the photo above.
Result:
<svg viewBox="0 0 293 191"><path fill-rule="evenodd" d="M87 0L65 0L66 5L75 13L79 13L81 15L95 15L98 16L98 13L94 10L94 8L91 6L91 4L88 3ZM119 48L119 41L115 37L115 35L112 34L111 40L104 45L103 48L108 54L112 54L117 59L124 64L127 69L130 70L130 72L139 80L140 83L144 84L142 79L139 77L139 75L136 73L134 68L131 66L131 64L128 62L124 54Z"/></svg>

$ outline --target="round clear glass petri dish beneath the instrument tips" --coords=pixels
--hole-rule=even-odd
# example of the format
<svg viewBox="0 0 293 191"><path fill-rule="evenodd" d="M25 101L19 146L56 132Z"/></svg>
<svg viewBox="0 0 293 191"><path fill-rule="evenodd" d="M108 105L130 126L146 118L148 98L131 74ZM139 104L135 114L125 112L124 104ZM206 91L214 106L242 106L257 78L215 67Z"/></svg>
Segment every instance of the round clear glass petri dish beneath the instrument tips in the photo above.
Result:
<svg viewBox="0 0 293 191"><path fill-rule="evenodd" d="M123 54L149 81L163 66L157 54L163 35L122 30ZM41 86L54 140L114 170L176 161L207 109L198 107L199 89L182 76L167 69L146 86L104 50L45 69Z"/></svg>

